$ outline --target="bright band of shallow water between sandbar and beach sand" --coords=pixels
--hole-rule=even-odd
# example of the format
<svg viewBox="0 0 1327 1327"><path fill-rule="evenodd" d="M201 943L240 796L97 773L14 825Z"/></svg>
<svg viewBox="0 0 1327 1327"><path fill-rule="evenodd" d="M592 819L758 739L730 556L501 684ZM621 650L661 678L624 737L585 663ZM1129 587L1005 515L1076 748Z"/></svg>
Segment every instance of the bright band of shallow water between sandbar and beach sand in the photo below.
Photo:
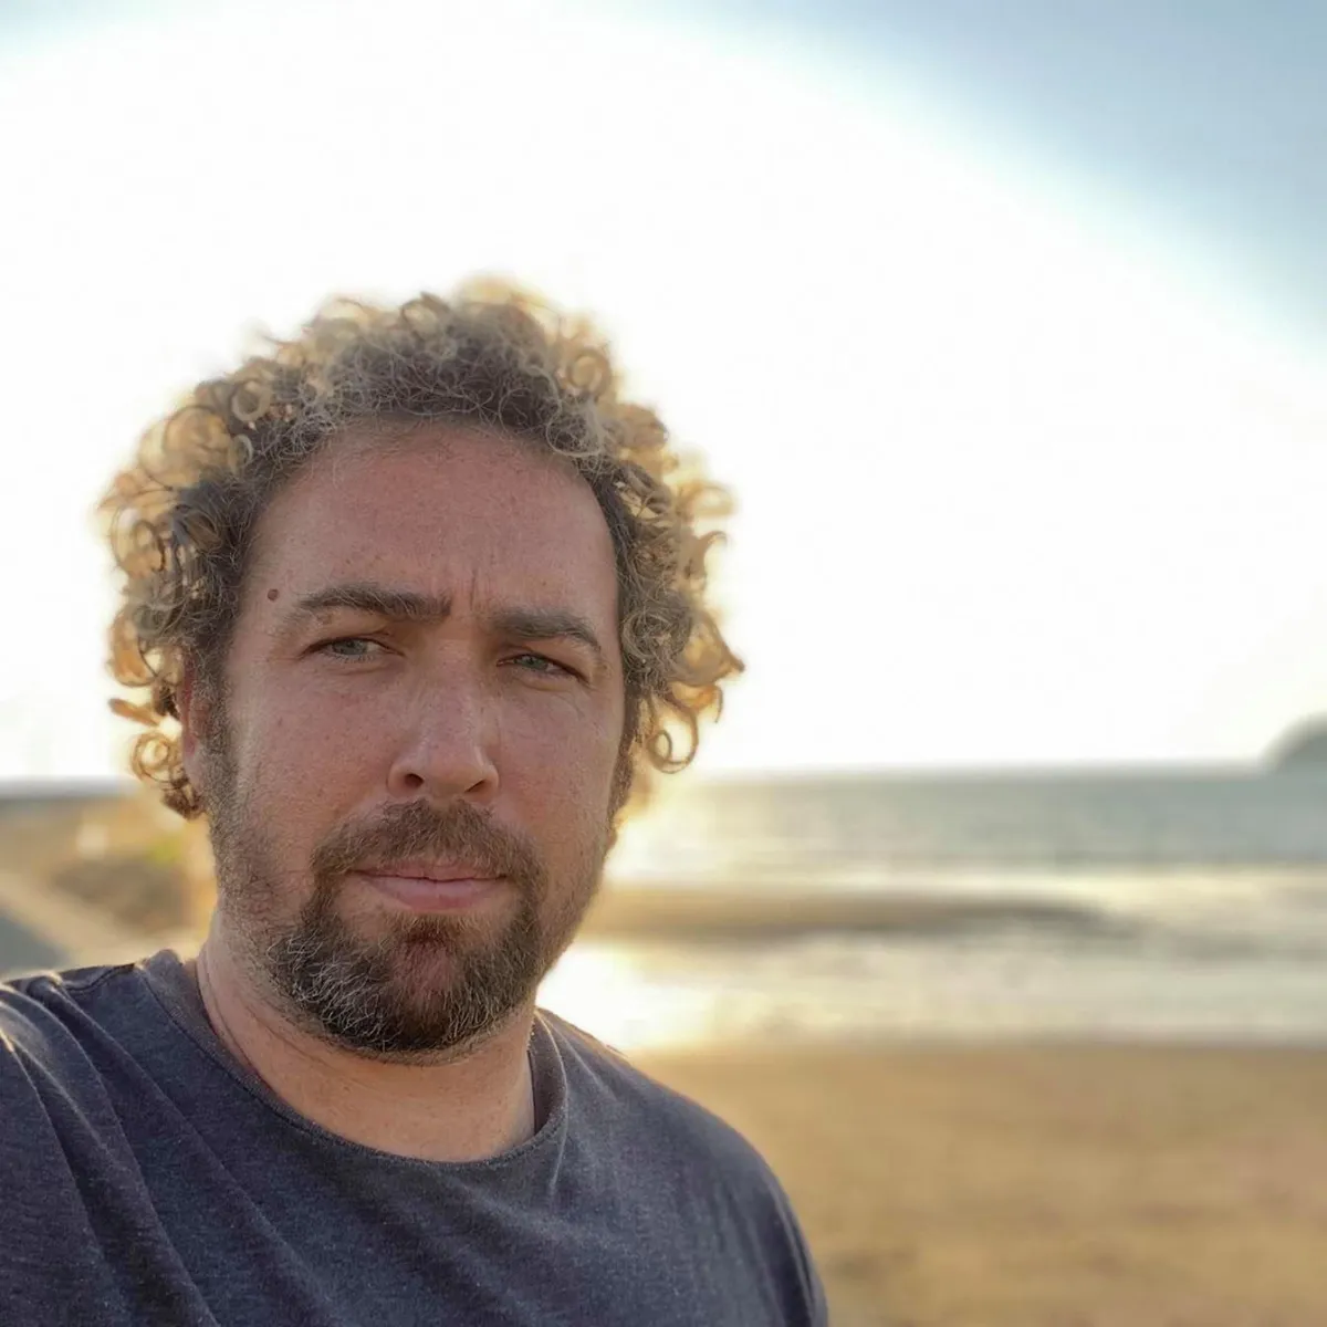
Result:
<svg viewBox="0 0 1327 1327"><path fill-rule="evenodd" d="M1322 954L1006 932L575 945L543 1007L622 1051L788 1040L1327 1042Z"/></svg>

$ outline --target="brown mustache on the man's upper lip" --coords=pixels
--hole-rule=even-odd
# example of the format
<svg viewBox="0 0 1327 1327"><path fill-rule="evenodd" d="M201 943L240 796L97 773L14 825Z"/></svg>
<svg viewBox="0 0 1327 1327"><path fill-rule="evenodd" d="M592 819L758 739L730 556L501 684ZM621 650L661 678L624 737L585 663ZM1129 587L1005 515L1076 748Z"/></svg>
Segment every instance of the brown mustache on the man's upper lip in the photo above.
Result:
<svg viewBox="0 0 1327 1327"><path fill-rule="evenodd" d="M466 802L446 811L410 802L373 820L341 825L313 851L311 865L316 878L333 880L366 865L381 869L418 857L455 859L528 890L543 888L544 869L533 847Z"/></svg>

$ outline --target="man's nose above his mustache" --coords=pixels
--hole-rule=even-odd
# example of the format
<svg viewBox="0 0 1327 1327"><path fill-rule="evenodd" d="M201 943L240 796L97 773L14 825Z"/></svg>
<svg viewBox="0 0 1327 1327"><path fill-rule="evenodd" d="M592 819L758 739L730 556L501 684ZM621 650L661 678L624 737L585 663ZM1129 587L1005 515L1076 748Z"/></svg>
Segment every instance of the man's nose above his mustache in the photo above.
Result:
<svg viewBox="0 0 1327 1327"><path fill-rule="evenodd" d="M447 686L421 686L402 721L387 772L393 798L492 799L498 791L496 734L491 706L476 687L455 675Z"/></svg>

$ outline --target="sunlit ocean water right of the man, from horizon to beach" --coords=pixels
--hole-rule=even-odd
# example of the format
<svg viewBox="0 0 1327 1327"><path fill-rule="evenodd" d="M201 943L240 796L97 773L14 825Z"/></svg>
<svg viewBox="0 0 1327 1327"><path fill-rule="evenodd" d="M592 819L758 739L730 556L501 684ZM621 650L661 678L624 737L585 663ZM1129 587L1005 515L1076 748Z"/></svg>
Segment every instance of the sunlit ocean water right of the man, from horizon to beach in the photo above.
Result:
<svg viewBox="0 0 1327 1327"><path fill-rule="evenodd" d="M945 905L882 930L577 942L543 1003L624 1050L1327 1040L1327 771L683 775L609 878Z"/></svg>

